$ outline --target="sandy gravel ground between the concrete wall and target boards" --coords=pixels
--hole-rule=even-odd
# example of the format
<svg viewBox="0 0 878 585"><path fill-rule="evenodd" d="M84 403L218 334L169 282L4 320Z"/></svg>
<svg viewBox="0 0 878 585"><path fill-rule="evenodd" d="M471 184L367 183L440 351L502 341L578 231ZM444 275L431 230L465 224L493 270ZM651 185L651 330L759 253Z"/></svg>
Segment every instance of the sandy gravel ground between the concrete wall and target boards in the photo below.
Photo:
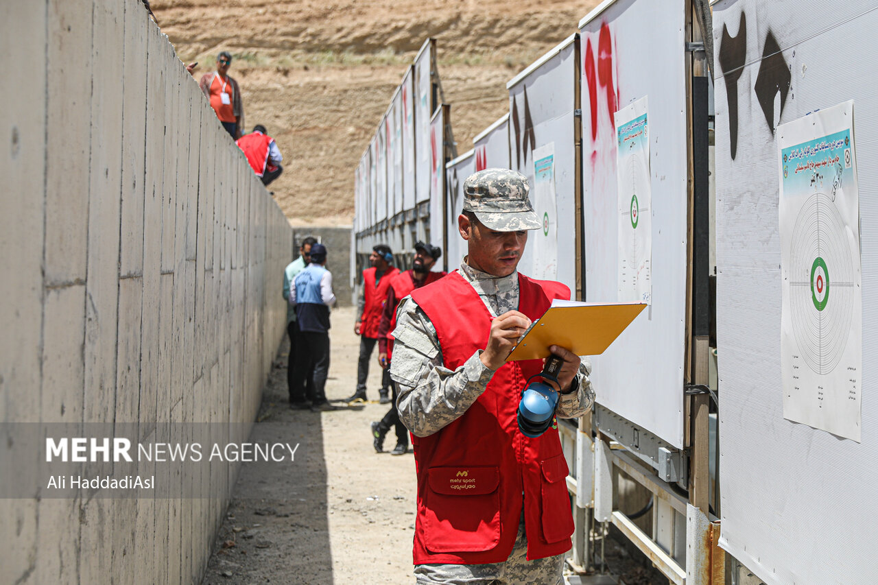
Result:
<svg viewBox="0 0 878 585"><path fill-rule="evenodd" d="M331 401L356 386L353 317L352 307L332 314ZM250 441L299 444L295 460L242 467L203 584L414 582L414 458L372 448L369 424L387 411L377 400L377 361L370 368L371 402L312 413L288 408L288 351L284 339ZM387 451L394 438L387 437ZM643 555L612 538L606 555L619 582L667 583Z"/></svg>

